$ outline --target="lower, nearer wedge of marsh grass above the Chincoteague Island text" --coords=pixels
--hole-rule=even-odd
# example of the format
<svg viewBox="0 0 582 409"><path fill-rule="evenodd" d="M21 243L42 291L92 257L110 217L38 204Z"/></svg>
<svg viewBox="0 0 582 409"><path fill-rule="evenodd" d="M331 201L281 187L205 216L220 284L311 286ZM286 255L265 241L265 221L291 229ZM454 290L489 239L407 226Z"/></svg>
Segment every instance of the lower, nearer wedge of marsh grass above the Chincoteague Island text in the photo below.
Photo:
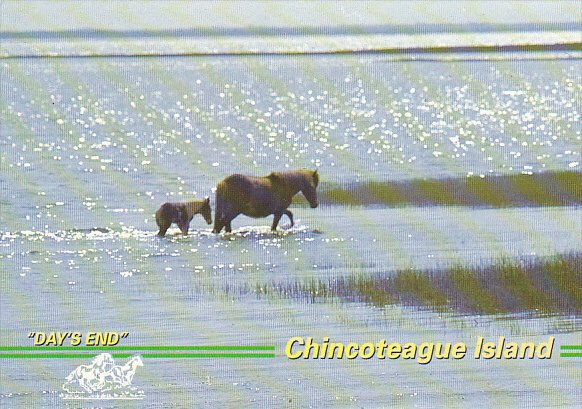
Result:
<svg viewBox="0 0 582 409"><path fill-rule="evenodd" d="M582 253L519 260L483 267L399 270L327 280L271 282L256 286L261 296L307 302L402 304L467 314L538 312L582 314Z"/></svg>

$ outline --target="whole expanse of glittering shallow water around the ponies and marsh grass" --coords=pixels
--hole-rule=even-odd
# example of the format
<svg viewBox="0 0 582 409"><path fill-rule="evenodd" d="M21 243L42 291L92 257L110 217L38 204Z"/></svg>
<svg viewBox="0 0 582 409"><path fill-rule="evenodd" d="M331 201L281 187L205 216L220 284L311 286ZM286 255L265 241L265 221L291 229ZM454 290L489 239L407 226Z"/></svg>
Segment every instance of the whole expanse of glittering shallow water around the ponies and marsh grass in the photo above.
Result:
<svg viewBox="0 0 582 409"><path fill-rule="evenodd" d="M396 270L581 248L580 207L293 205L297 225L200 216L156 237L164 201L224 176L318 167L363 181L580 169L577 62L370 57L2 61L2 344L30 331L128 331L127 345L275 345L275 359L146 360L140 402L106 407L574 406L579 364L289 361L288 338L579 343L580 316L462 315L261 294ZM324 184L322 182L322 188ZM557 350L556 350L557 351ZM557 353L555 351L555 353ZM121 360L123 361L123 360ZM79 360L2 360L4 407L79 407ZM544 373L543 380L539 377Z"/></svg>

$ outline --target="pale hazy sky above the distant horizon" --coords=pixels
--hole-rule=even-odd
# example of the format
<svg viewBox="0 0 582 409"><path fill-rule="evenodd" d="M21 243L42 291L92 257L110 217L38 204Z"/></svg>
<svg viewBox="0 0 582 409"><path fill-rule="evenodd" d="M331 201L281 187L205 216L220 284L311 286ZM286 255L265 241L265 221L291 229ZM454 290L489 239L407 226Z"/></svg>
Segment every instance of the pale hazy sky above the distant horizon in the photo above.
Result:
<svg viewBox="0 0 582 409"><path fill-rule="evenodd" d="M579 22L582 1L0 2L0 30Z"/></svg>

